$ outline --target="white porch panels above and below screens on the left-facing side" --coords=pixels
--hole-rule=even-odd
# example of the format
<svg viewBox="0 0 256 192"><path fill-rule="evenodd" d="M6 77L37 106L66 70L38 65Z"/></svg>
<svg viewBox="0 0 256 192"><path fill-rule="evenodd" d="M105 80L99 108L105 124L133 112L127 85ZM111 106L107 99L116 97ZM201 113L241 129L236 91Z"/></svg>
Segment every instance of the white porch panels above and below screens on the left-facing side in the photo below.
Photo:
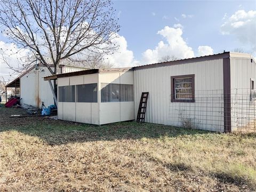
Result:
<svg viewBox="0 0 256 192"><path fill-rule="evenodd" d="M58 87L90 83L98 83L98 74L58 78ZM98 125L99 102L58 102L58 119Z"/></svg>

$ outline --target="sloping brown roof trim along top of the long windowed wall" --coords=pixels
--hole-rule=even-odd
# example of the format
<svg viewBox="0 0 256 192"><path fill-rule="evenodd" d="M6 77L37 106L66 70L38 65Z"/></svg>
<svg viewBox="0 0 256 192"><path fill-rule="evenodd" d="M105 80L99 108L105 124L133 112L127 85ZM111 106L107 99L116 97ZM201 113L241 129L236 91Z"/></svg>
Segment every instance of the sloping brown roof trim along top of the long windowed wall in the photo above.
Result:
<svg viewBox="0 0 256 192"><path fill-rule="evenodd" d="M224 52L224 53L207 55L207 56L202 56L202 57L195 57L195 58L181 59L181 60L176 60L176 61L153 63L153 64L149 64L149 65L144 65L144 66L137 66L137 67L134 67L134 70L150 69L150 68L156 68L156 67L166 67L166 66L180 65L180 64L191 63L191 62L202 62L202 61L209 61L209 60L215 60L215 59L224 59L224 58L229 58L229 57L230 57L229 52Z"/></svg>

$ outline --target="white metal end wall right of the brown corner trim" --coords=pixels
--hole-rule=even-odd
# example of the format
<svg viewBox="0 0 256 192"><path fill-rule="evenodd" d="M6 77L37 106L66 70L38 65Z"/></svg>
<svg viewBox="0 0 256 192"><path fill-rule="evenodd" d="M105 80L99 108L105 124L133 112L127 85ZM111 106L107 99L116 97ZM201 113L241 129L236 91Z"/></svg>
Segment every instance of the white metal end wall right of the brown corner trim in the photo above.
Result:
<svg viewBox="0 0 256 192"><path fill-rule="evenodd" d="M256 80L256 63L251 62L251 58L231 58L230 71L231 126L234 131L237 126L247 126L250 118L256 118L254 110L256 102L250 101L250 78Z"/></svg>

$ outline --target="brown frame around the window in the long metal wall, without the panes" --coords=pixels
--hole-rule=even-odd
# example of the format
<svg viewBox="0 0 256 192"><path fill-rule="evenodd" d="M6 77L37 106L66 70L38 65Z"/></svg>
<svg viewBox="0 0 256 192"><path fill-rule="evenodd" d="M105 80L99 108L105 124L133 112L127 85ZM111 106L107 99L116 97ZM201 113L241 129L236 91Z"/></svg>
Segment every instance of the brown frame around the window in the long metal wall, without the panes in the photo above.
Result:
<svg viewBox="0 0 256 192"><path fill-rule="evenodd" d="M192 78L192 99L175 99L174 79ZM171 102L195 102L195 74L171 76Z"/></svg>

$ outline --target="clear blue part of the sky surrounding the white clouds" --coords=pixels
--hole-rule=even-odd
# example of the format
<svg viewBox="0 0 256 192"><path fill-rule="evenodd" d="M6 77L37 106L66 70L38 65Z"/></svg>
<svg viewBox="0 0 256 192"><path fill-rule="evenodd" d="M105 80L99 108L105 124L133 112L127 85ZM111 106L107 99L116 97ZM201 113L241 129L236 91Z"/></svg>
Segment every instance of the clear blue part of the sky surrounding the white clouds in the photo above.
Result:
<svg viewBox="0 0 256 192"><path fill-rule="evenodd" d="M183 39L193 50L200 45L211 46L214 53L251 47L239 42L234 35L222 35L225 13L230 17L238 10L255 10L256 1L115 1L121 30L127 49L140 60L146 49L154 49L164 38L157 34L165 26L183 26ZM183 18L182 14L192 15ZM178 20L175 20L177 18Z"/></svg>

